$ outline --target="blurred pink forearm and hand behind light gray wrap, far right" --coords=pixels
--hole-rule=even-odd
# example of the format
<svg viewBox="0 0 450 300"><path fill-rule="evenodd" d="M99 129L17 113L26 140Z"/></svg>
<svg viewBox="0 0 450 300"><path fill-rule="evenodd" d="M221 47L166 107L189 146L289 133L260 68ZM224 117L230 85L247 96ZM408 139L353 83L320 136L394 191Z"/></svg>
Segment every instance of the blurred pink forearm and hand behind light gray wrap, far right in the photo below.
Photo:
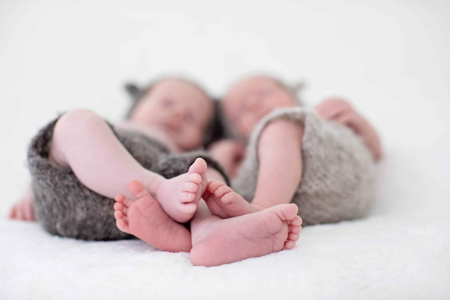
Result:
<svg viewBox="0 0 450 300"><path fill-rule="evenodd" d="M315 110L325 120L336 121L347 125L354 130L356 134L364 139L364 142L372 152L375 161L380 159L382 150L377 132L367 120L351 107L350 103L343 99L330 98L316 105Z"/></svg>

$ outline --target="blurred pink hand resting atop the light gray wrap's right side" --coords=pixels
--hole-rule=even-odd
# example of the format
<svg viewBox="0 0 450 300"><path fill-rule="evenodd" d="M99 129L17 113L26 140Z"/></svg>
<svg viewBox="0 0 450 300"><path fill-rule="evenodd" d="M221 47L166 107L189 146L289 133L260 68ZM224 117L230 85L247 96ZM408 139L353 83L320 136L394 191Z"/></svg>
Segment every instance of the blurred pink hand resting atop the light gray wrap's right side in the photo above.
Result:
<svg viewBox="0 0 450 300"><path fill-rule="evenodd" d="M357 134L360 133L362 119L346 100L329 98L317 104L314 108L325 120L347 125Z"/></svg>

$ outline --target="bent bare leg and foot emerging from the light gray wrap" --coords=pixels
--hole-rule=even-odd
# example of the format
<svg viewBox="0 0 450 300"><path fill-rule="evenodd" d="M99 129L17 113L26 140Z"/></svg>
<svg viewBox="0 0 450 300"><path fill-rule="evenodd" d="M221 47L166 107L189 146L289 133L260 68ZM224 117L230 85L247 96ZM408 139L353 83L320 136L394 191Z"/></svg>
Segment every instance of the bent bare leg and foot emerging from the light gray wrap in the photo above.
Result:
<svg viewBox="0 0 450 300"><path fill-rule="evenodd" d="M302 137L302 126L292 121L267 125L259 139L260 167L252 203L223 182L210 180L203 198L211 212L229 218L289 203L302 176Z"/></svg>

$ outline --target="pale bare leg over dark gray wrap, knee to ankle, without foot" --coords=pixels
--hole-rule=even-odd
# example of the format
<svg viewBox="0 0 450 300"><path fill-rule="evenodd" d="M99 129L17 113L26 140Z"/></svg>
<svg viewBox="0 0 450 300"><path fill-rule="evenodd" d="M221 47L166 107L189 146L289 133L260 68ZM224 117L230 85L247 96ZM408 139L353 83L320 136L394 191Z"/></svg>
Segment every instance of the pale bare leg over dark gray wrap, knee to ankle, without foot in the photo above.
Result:
<svg viewBox="0 0 450 300"><path fill-rule="evenodd" d="M144 169L94 112L75 110L59 118L53 130L50 161L70 166L85 186L105 197L132 194L127 184L139 180L150 187L160 175Z"/></svg>

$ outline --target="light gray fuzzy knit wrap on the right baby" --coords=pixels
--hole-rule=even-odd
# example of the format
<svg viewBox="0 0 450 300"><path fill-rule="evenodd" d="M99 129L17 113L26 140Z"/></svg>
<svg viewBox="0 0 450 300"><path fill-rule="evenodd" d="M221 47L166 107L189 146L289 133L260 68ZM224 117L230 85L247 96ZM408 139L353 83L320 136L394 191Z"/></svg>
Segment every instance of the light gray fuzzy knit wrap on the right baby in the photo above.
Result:
<svg viewBox="0 0 450 300"><path fill-rule="evenodd" d="M303 225L361 218L374 199L374 160L364 141L344 125L324 121L304 107L278 109L261 120L247 146L247 156L234 179L234 190L252 201L258 178L258 141L275 120L304 126L302 179L292 202Z"/></svg>

